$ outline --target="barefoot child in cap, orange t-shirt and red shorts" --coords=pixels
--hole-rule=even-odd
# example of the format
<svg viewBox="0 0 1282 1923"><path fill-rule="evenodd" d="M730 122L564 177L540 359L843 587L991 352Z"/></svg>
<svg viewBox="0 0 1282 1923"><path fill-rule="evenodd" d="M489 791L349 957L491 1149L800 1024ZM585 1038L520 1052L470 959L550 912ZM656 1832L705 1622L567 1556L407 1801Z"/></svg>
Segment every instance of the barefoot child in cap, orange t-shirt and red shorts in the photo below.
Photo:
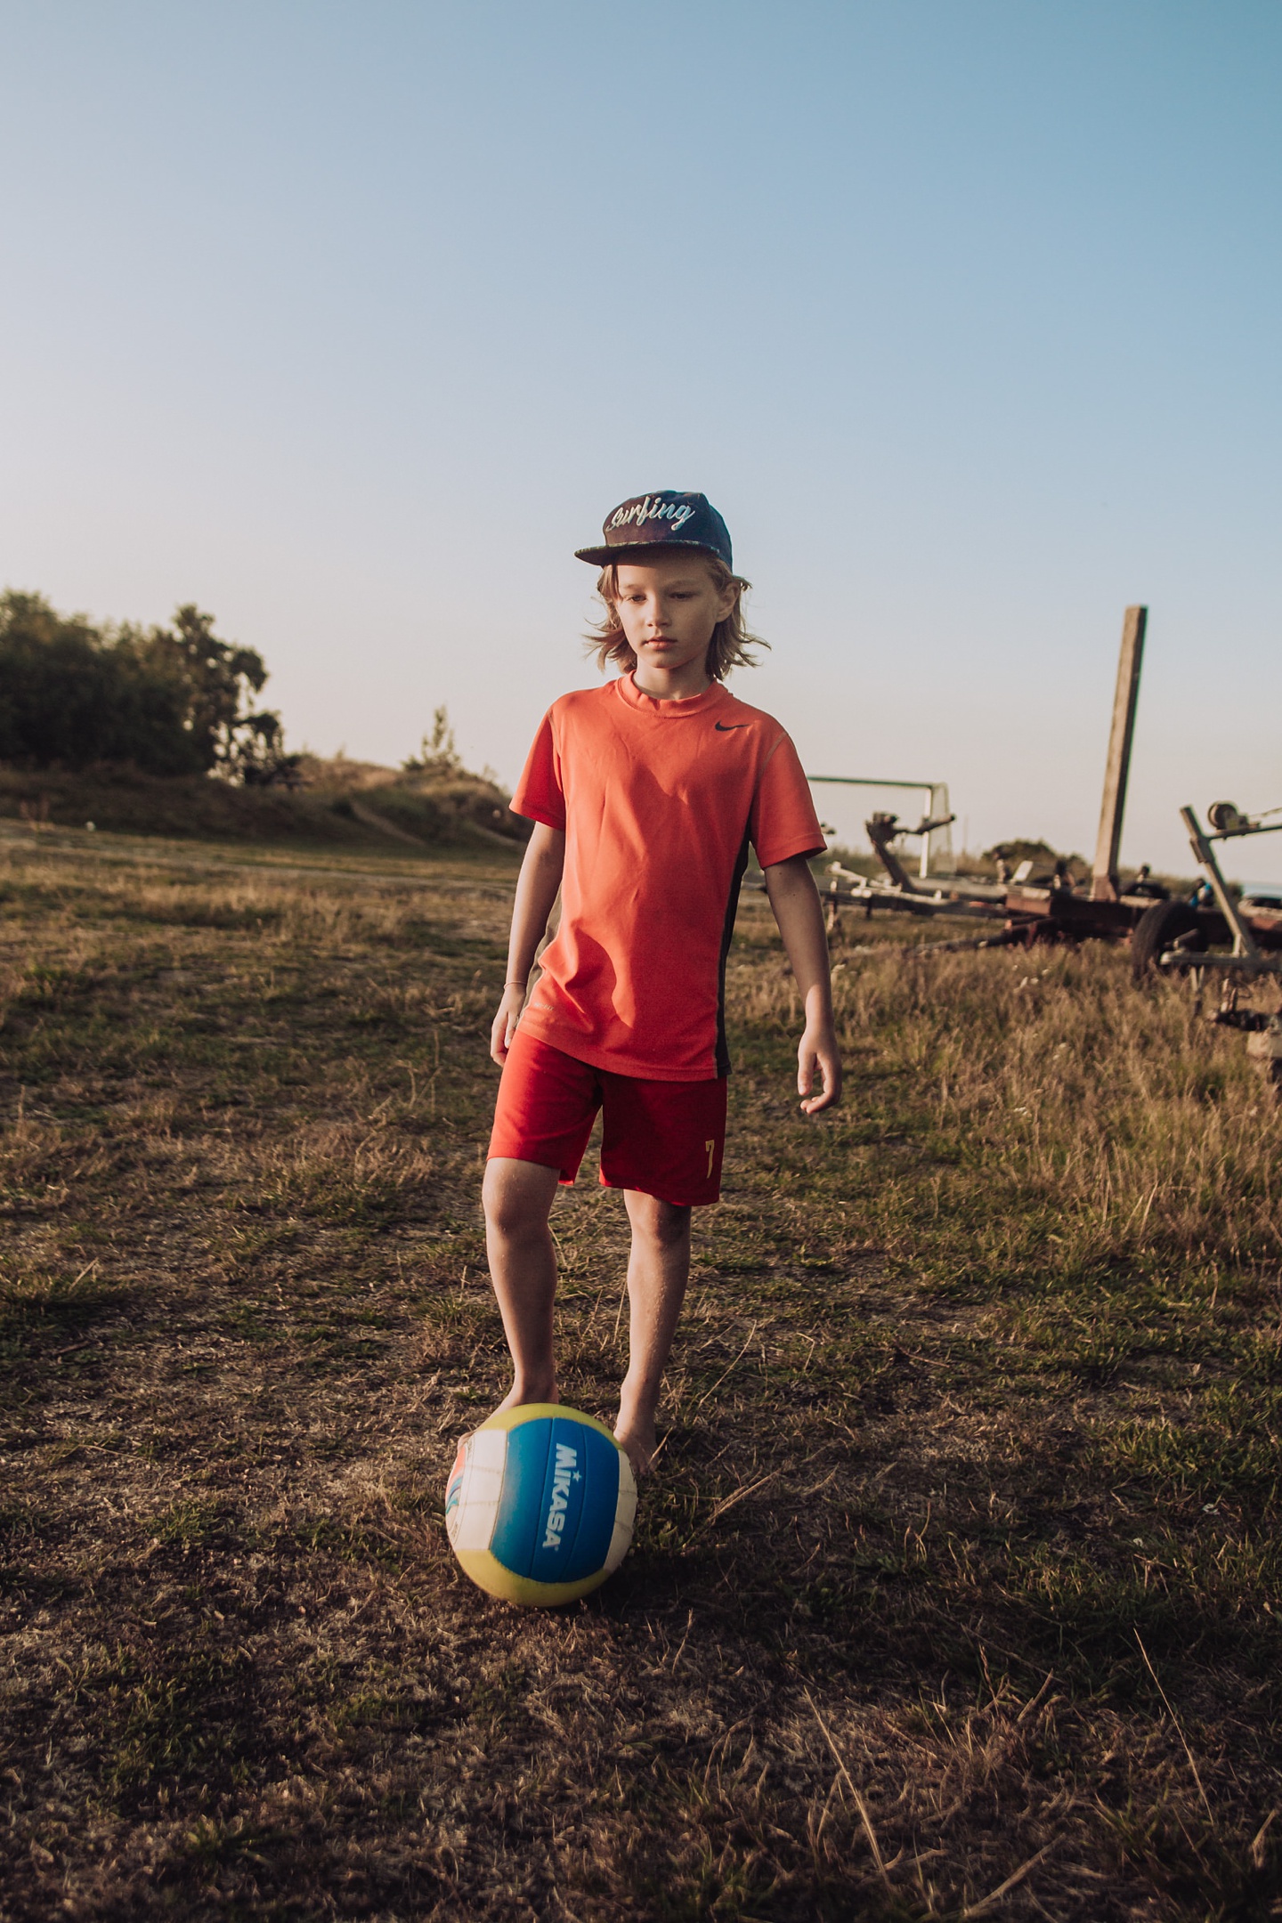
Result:
<svg viewBox="0 0 1282 1923"><path fill-rule="evenodd" d="M504 1069L484 1175L490 1275L513 1360L500 1408L555 1402L548 1215L604 1108L602 1183L632 1225L629 1371L615 1436L644 1475L690 1273L690 1211L721 1194L725 960L748 842L805 1008L798 1092L840 1096L828 944L807 856L825 846L782 727L721 685L752 662L727 525L661 490L607 515L598 663L623 673L548 710L511 798L534 821L490 1036ZM529 975L561 892L561 923ZM519 1021L519 1027L517 1027ZM815 1073L823 1092L811 1096Z"/></svg>

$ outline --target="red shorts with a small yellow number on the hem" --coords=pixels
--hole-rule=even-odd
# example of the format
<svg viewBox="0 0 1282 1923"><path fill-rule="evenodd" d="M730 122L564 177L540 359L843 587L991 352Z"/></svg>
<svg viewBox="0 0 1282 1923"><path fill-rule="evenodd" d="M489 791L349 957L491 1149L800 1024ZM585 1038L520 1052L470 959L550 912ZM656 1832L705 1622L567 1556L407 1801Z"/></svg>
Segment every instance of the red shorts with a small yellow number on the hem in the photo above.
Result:
<svg viewBox="0 0 1282 1923"><path fill-rule="evenodd" d="M534 1040L511 1038L498 1085L490 1156L538 1161L573 1183L604 1110L602 1183L692 1208L721 1196L727 1079L653 1083L594 1069Z"/></svg>

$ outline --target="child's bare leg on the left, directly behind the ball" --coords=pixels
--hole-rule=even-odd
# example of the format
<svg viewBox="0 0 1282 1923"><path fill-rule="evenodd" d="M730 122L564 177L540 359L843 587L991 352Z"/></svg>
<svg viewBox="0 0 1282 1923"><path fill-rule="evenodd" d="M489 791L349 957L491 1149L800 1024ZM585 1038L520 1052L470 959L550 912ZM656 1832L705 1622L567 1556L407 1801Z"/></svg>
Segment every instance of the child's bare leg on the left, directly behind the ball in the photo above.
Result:
<svg viewBox="0 0 1282 1923"><path fill-rule="evenodd" d="M557 1398L552 1348L555 1248L548 1229L557 1177L557 1169L505 1156L486 1161L484 1169L484 1242L513 1367L511 1390L500 1410Z"/></svg>

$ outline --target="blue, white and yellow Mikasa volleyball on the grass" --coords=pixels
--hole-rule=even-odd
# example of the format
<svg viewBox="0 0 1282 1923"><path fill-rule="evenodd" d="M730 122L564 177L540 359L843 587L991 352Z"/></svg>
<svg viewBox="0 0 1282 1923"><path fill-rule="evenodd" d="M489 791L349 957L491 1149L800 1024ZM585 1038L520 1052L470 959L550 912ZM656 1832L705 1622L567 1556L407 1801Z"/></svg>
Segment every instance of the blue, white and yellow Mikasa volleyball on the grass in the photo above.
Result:
<svg viewBox="0 0 1282 1923"><path fill-rule="evenodd" d="M636 1483L605 1423L554 1402L463 1436L446 1488L450 1548L504 1602L573 1602L629 1552Z"/></svg>

